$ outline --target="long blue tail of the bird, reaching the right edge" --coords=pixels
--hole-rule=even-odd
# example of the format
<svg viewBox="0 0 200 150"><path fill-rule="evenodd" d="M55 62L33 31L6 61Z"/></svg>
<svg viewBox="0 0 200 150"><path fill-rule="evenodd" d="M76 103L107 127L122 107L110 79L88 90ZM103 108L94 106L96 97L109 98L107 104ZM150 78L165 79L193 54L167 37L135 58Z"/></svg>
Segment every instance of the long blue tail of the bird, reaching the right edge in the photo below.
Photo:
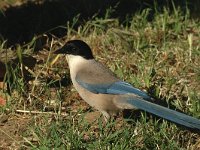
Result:
<svg viewBox="0 0 200 150"><path fill-rule="evenodd" d="M183 113L177 112L175 110L171 110L169 108L154 104L149 101L145 101L140 98L128 98L127 100L118 101L123 106L126 106L125 103L128 103L127 106L130 108L137 107L138 109L147 111L159 117L165 118L172 122L175 122L180 125L184 125L189 128L199 129L200 130L200 120L194 117L185 115Z"/></svg>

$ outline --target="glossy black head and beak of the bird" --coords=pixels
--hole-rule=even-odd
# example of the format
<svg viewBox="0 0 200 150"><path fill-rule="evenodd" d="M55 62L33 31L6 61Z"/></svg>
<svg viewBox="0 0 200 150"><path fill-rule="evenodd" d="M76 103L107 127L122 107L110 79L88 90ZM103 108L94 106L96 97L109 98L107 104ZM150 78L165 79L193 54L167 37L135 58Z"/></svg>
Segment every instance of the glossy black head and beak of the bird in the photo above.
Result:
<svg viewBox="0 0 200 150"><path fill-rule="evenodd" d="M54 54L71 54L82 56L85 59L93 59L90 47L81 40L68 41L62 48L56 50Z"/></svg>

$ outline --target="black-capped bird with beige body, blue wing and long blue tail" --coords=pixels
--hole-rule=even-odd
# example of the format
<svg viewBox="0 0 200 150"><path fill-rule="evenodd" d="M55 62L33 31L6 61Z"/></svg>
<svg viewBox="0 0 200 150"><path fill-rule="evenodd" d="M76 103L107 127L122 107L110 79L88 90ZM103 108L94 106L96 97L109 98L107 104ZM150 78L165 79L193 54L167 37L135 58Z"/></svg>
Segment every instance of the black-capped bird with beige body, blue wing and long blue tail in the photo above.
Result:
<svg viewBox="0 0 200 150"><path fill-rule="evenodd" d="M53 52L68 62L73 86L80 97L99 110L106 121L124 109L140 109L176 124L200 130L200 120L153 103L152 97L119 79L108 67L95 60L90 46L69 40Z"/></svg>

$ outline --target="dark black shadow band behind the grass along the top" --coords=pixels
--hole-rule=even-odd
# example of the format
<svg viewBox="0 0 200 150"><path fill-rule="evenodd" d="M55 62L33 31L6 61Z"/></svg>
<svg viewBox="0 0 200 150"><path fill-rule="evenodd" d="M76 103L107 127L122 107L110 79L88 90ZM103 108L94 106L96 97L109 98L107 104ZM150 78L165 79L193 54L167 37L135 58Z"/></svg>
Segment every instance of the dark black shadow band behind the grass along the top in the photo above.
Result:
<svg viewBox="0 0 200 150"><path fill-rule="evenodd" d="M185 10L185 1L174 0ZM200 2L193 0L188 5L191 10L196 10ZM108 9L114 8L111 17L117 17L123 23L136 11L144 8L152 8L152 18L155 7L155 0L43 0L41 4L29 1L15 7L9 7L0 13L0 37L7 40L7 46L24 44L32 40L35 35L51 33L57 37L66 35L66 24L72 22L73 18L80 14L79 20L74 26L76 29L83 21L87 21L95 14L98 17L105 17ZM157 1L158 9L163 6L171 7L170 0ZM197 9L198 10L198 9ZM63 27L61 27L63 26Z"/></svg>

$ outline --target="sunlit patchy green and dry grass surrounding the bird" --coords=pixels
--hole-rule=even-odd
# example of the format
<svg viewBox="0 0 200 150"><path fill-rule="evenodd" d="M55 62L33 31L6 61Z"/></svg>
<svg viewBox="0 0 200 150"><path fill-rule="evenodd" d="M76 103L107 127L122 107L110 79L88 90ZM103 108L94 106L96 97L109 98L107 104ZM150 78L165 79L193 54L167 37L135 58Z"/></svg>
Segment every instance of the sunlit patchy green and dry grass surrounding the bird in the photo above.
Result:
<svg viewBox="0 0 200 150"><path fill-rule="evenodd" d="M156 8L155 8L156 9ZM111 10L112 12L113 10ZM87 123L88 109L68 80L68 68L64 58L51 66L54 56L51 51L70 39L86 41L98 61L107 65L121 79L137 88L148 91L157 101L200 119L200 24L190 18L190 11L180 8L163 8L149 21L152 9L137 12L126 23L110 18L94 17L73 26L76 16L67 24L66 37L54 37L48 42L42 63L38 63L31 74L32 83L24 80L22 53L33 49L32 42L17 48L21 65L12 68L7 76L11 96L1 93L8 103L6 110L38 110L56 112L56 115L30 116L31 122L23 134L21 148L28 149L198 149L200 135L176 126L160 118L140 112L139 117L112 120L108 124L98 118ZM6 49L1 41L1 51ZM33 44L34 45L34 44ZM33 54L34 55L34 54ZM43 56L43 55L42 55ZM42 59L42 57L39 57ZM61 60L61 61L60 61ZM63 69L63 67L65 69ZM14 82L13 82L14 81ZM68 86L66 86L68 85ZM64 108L64 110L63 110ZM67 117L61 112L67 112ZM13 113L15 113L13 111ZM12 136L12 135L11 135Z"/></svg>

